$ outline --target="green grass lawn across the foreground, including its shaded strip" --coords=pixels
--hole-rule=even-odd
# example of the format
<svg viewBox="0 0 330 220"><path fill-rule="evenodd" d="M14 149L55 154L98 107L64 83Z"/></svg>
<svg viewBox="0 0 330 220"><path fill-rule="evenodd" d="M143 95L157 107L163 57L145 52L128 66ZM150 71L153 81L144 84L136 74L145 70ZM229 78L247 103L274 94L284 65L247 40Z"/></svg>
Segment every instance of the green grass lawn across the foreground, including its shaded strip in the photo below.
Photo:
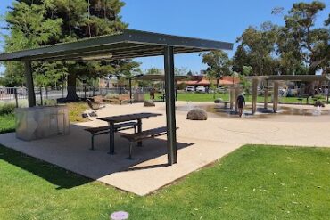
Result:
<svg viewBox="0 0 330 220"><path fill-rule="evenodd" d="M0 147L1 219L330 219L330 149L243 146L138 197Z"/></svg>

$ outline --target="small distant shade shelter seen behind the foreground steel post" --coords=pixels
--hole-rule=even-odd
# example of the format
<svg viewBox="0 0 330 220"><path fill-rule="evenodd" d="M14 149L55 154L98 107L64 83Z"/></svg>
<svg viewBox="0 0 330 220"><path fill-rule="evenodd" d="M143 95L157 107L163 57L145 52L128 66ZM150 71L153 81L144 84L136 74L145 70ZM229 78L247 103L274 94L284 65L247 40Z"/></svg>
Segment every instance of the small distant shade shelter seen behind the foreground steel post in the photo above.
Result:
<svg viewBox="0 0 330 220"><path fill-rule="evenodd" d="M179 76L179 75L175 75L174 76L174 81L175 81L175 89L176 89L176 100L177 100L177 80L183 80L183 79L187 79L190 78L190 76ZM129 77L128 81L129 81L129 98L130 98L130 102L132 103L132 80L141 80L141 81L165 81L165 75L162 74L150 74L150 75L144 75L144 74L140 74L140 75L136 75L133 77Z"/></svg>

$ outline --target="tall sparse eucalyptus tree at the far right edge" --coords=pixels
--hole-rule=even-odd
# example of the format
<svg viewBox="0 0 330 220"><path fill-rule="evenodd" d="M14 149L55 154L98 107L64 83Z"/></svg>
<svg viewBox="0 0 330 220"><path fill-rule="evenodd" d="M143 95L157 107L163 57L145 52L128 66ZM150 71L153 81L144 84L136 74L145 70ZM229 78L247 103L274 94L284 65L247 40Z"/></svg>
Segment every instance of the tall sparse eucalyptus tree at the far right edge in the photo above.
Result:
<svg viewBox="0 0 330 220"><path fill-rule="evenodd" d="M326 27L316 28L319 12L326 4L313 1L296 3L285 14L285 27L279 31L278 51L283 67L304 66L306 74L314 75L318 69L329 67L330 32Z"/></svg>

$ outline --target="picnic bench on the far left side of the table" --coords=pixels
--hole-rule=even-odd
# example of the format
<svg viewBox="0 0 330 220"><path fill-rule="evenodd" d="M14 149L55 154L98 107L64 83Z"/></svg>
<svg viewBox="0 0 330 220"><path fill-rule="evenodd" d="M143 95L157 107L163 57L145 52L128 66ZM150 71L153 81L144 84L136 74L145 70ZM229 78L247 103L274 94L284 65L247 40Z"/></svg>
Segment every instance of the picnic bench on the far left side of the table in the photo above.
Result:
<svg viewBox="0 0 330 220"><path fill-rule="evenodd" d="M119 131L128 130L128 129L133 128L134 133L136 133L136 126L137 126L137 122L134 122L134 121L115 124L114 125L114 132L119 132ZM97 136L97 135L101 135L101 134L109 134L110 133L110 127L109 126L91 127L91 128L85 129L85 131L92 134L92 139L91 139L92 143L91 143L91 148L90 149L94 150L94 137Z"/></svg>

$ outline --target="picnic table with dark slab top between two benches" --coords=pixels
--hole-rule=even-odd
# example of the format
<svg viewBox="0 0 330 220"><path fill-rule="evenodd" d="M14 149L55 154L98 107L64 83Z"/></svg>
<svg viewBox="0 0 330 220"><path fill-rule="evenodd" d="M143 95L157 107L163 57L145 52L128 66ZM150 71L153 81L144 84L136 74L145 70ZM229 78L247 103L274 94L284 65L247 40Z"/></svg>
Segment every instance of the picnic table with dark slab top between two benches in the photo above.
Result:
<svg viewBox="0 0 330 220"><path fill-rule="evenodd" d="M115 124L128 122L128 121L137 121L137 132L142 132L142 119L148 119L151 117L158 117L161 114L156 113L137 113L137 114L128 114L128 115L119 115L119 116L111 116L111 117L104 117L104 118L97 118L99 120L103 120L108 122L109 130L110 130L110 144L109 144L109 154L114 154L114 133ZM137 143L138 146L142 146L142 142Z"/></svg>

